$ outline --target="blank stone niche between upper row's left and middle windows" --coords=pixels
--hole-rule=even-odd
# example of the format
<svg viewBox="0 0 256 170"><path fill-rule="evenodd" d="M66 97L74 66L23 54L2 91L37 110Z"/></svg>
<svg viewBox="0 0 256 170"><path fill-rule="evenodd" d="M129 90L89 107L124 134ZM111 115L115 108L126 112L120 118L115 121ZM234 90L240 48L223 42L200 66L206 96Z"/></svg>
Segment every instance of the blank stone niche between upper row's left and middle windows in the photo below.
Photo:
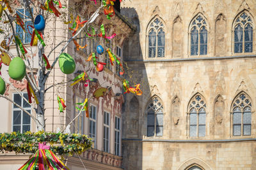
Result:
<svg viewBox="0 0 256 170"><path fill-rule="evenodd" d="M182 31L182 19L178 15L173 20L172 27L172 57L182 57L184 31Z"/></svg>

